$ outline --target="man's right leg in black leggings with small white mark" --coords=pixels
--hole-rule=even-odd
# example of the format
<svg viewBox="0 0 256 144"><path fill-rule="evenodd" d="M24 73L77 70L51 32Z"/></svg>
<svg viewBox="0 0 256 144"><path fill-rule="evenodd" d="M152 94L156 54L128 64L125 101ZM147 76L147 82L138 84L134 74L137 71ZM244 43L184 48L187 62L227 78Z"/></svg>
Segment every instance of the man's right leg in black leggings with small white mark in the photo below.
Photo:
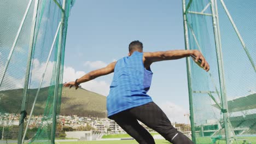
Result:
<svg viewBox="0 0 256 144"><path fill-rule="evenodd" d="M137 118L149 128L154 129L165 137L167 141L173 144L190 144L193 143L187 136L174 128L165 113L155 103L133 107L129 113Z"/></svg>

